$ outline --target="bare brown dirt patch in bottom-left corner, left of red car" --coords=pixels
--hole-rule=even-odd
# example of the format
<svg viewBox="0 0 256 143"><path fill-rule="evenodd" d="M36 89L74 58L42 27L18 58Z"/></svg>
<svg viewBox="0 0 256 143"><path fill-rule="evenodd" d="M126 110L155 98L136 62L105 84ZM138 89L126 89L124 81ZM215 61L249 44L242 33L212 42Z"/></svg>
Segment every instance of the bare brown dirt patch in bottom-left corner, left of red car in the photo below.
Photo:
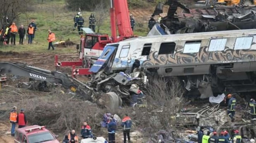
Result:
<svg viewBox="0 0 256 143"><path fill-rule="evenodd" d="M13 137L11 137L11 135L9 133L10 133L10 123L0 121L0 141L1 141L1 143L13 143Z"/></svg>

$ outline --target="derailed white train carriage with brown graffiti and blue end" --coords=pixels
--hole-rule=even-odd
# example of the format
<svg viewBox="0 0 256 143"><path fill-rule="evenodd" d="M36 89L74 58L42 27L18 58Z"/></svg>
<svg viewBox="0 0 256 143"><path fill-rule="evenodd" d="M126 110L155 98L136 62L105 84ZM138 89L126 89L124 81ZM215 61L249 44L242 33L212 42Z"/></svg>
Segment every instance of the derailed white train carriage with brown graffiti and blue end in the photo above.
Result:
<svg viewBox="0 0 256 143"><path fill-rule="evenodd" d="M256 29L131 38L106 45L93 73L124 71L134 60L151 74L177 76L201 98L256 91Z"/></svg>

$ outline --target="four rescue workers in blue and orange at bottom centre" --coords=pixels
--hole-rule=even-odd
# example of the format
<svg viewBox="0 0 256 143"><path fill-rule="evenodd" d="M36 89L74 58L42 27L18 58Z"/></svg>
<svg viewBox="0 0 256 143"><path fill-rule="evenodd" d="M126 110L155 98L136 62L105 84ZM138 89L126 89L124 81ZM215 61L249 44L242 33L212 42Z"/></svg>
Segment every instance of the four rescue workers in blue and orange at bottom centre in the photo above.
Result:
<svg viewBox="0 0 256 143"><path fill-rule="evenodd" d="M125 116L122 119L121 126L123 127L123 138L124 143L126 143L126 137L128 138L128 143L132 143L130 141L130 129L132 128L132 120L131 118L125 114ZM115 133L117 130L117 121L115 120L114 116L111 116L108 121L108 143L115 143ZM83 126L81 127L80 131L81 138L93 138L91 127L87 124L87 122L83 123ZM65 136L63 139L63 143L78 143L79 137L77 134L75 134L75 130L72 130L69 132L68 135ZM105 141L106 143L107 141Z"/></svg>

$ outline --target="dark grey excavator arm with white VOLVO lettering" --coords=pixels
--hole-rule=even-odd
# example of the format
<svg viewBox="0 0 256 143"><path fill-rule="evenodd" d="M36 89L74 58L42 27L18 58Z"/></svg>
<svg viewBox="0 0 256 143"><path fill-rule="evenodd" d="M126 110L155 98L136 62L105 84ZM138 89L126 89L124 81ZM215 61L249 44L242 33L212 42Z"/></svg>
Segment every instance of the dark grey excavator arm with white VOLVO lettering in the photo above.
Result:
<svg viewBox="0 0 256 143"><path fill-rule="evenodd" d="M86 100L90 99L90 95L88 95L88 92L83 89L88 89L89 87L76 79L72 79L72 77L69 77L67 74L61 73L59 71L45 70L37 67L28 66L24 63L0 62L0 74L11 74L22 77L29 77L31 79L46 81L50 83L59 83L65 89L71 89L71 91L79 93L81 96L85 97ZM79 89L79 86L83 86L83 88Z"/></svg>

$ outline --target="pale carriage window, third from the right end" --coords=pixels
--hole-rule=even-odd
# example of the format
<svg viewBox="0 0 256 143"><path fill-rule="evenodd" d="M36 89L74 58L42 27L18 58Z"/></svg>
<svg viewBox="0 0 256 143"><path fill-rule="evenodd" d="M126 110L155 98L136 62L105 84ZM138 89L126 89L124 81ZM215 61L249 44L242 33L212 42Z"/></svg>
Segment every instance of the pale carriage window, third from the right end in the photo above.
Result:
<svg viewBox="0 0 256 143"><path fill-rule="evenodd" d="M186 41L183 53L197 53L201 47L200 41Z"/></svg>

